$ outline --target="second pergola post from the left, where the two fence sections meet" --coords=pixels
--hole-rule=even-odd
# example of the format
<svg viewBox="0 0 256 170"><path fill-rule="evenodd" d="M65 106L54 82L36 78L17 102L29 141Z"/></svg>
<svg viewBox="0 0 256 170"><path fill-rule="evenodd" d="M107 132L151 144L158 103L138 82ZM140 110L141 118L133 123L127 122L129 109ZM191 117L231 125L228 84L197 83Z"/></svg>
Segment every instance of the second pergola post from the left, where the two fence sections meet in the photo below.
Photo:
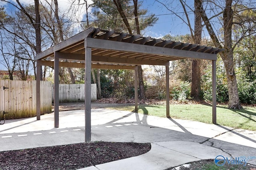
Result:
<svg viewBox="0 0 256 170"><path fill-rule="evenodd" d="M59 57L54 52L54 127L59 127Z"/></svg>

